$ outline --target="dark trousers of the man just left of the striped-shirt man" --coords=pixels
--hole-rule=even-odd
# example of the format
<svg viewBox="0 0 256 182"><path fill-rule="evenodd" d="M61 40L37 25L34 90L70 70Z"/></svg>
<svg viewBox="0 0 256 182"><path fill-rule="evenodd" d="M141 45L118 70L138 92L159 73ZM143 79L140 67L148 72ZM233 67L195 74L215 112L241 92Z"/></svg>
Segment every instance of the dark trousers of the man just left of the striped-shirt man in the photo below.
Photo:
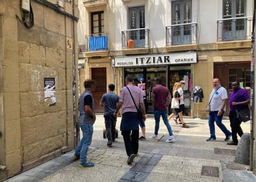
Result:
<svg viewBox="0 0 256 182"><path fill-rule="evenodd" d="M112 145L114 139L116 139L116 117L111 114L104 114L104 118L107 134L107 144Z"/></svg>

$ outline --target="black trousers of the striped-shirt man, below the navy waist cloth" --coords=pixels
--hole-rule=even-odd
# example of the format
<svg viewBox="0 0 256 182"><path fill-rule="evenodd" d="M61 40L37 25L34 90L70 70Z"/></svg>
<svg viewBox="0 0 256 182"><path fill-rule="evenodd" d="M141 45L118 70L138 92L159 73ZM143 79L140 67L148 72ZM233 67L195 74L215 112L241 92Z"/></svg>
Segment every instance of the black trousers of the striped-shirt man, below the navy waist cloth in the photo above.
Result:
<svg viewBox="0 0 256 182"><path fill-rule="evenodd" d="M122 136L127 156L138 154L139 130L123 130Z"/></svg>

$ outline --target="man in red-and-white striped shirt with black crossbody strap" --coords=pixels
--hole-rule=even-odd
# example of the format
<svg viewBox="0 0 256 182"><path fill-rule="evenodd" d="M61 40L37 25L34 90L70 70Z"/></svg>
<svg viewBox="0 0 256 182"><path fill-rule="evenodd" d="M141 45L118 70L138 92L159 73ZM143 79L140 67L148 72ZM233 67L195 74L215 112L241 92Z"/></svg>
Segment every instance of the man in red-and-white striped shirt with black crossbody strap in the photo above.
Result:
<svg viewBox="0 0 256 182"><path fill-rule="evenodd" d="M137 108L142 111L143 120L145 121L145 105L142 90L133 85L133 77L125 77L125 84L126 86L123 86L120 91L120 99L114 116L117 116L118 110L122 107L120 130L122 131L127 156L129 156L127 163L131 164L136 154L138 154L139 121Z"/></svg>

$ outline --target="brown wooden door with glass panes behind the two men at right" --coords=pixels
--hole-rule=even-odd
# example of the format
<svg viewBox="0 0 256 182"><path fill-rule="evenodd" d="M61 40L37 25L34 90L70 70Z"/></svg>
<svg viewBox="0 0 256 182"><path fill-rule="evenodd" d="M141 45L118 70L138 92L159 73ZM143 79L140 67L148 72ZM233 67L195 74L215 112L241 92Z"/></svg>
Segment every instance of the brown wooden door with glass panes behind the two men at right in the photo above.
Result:
<svg viewBox="0 0 256 182"><path fill-rule="evenodd" d="M250 80L250 62L230 62L230 63L214 63L213 77L220 79L221 85L227 89L228 100L232 92L231 83L238 81L241 88L245 88L249 93L251 89ZM223 74L226 73L226 74ZM226 104L226 113L228 116L229 105Z"/></svg>

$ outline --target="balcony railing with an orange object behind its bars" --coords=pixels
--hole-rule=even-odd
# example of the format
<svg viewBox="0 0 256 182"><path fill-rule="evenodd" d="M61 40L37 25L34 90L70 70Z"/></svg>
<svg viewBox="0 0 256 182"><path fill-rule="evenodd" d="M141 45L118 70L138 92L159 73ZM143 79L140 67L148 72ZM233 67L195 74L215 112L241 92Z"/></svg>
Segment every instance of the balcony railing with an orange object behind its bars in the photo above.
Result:
<svg viewBox="0 0 256 182"><path fill-rule="evenodd" d="M149 28L122 31L122 49L149 48Z"/></svg>

